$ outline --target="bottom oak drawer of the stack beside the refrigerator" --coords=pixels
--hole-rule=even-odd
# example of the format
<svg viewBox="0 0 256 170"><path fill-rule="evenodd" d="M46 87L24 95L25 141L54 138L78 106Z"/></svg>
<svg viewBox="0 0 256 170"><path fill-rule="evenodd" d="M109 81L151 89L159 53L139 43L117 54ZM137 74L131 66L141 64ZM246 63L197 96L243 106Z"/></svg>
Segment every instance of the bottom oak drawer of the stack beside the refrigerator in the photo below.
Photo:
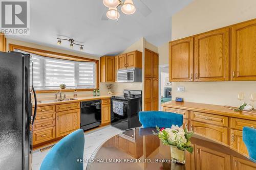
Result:
<svg viewBox="0 0 256 170"><path fill-rule="evenodd" d="M41 143L55 138L55 126L33 131L33 144Z"/></svg>

